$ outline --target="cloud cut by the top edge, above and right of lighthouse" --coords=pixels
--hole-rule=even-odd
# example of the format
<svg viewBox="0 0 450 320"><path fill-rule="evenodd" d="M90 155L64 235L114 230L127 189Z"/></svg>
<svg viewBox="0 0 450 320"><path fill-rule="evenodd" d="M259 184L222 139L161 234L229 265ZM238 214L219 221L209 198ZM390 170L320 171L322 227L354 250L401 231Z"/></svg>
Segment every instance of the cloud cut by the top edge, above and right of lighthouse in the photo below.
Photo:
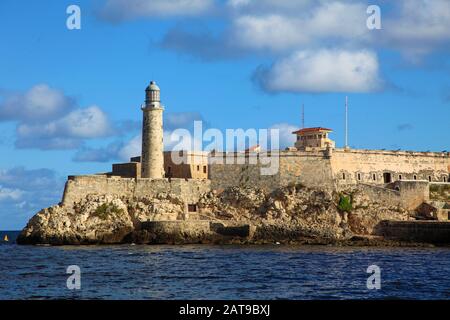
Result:
<svg viewBox="0 0 450 320"><path fill-rule="evenodd" d="M213 7L213 0L108 0L99 15L119 22L141 17L197 16Z"/></svg>

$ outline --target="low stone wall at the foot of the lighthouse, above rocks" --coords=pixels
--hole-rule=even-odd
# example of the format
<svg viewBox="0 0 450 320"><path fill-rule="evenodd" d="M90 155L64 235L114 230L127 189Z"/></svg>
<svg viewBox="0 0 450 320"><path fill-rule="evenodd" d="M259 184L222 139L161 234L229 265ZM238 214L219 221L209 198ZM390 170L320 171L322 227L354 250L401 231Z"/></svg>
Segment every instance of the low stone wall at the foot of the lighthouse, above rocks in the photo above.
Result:
<svg viewBox="0 0 450 320"><path fill-rule="evenodd" d="M156 196L174 193L187 203L197 203L210 190L209 180L131 179L106 175L70 176L66 182L63 204L79 201L88 194L111 194L126 197Z"/></svg>

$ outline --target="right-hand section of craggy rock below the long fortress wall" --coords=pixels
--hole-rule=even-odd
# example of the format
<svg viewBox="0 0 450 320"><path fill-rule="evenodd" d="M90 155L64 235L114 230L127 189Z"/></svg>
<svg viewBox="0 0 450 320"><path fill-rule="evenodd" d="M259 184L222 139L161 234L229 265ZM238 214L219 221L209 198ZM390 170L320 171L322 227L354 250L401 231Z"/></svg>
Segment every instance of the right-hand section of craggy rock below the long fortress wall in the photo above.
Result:
<svg viewBox="0 0 450 320"><path fill-rule="evenodd" d="M349 212L339 208L345 195L351 198ZM233 187L204 195L200 208L207 219L256 226L253 240L262 242L334 242L355 235L377 235L376 226L382 220L410 219L408 211L370 199L357 187L337 193L295 185L270 194Z"/></svg>

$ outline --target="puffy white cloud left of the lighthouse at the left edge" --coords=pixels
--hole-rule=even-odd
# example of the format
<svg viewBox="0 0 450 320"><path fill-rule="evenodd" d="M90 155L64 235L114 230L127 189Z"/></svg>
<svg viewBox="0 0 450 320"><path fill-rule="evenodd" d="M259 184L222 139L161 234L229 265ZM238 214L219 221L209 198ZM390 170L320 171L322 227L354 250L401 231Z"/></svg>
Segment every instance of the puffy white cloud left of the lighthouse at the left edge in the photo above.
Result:
<svg viewBox="0 0 450 320"><path fill-rule="evenodd" d="M73 149L86 139L111 135L107 115L98 107L75 108L75 100L47 84L24 93L5 93L0 100L0 121L17 122L15 145L32 149ZM126 127L126 124L123 124Z"/></svg>

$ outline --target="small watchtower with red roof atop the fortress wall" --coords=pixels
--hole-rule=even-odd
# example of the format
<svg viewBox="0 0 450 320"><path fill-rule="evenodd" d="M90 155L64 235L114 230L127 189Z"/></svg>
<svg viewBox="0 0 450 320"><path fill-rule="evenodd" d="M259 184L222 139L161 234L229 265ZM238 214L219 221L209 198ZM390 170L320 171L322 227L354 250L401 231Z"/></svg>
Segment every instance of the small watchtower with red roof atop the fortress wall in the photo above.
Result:
<svg viewBox="0 0 450 320"><path fill-rule="evenodd" d="M322 127L304 128L294 131L293 134L297 136L295 147L298 150L305 151L334 148L334 141L328 138L328 134L332 131Z"/></svg>

